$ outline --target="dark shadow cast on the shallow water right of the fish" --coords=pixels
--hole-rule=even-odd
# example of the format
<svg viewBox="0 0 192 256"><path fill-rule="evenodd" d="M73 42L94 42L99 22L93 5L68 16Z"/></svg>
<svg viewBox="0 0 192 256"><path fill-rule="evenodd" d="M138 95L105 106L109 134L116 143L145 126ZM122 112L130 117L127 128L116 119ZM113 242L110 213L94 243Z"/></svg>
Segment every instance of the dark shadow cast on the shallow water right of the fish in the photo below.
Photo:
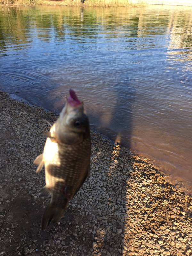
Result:
<svg viewBox="0 0 192 256"><path fill-rule="evenodd" d="M136 98L136 89L131 84L118 84L114 98L110 101L114 102L113 108L110 109L108 115L99 109L97 115L89 114L92 123L97 124L94 130L106 135L114 142L126 145L131 148L132 137L132 117L133 117L133 102ZM107 104L107 101L106 101ZM103 127L103 120L108 120L105 128Z"/></svg>

